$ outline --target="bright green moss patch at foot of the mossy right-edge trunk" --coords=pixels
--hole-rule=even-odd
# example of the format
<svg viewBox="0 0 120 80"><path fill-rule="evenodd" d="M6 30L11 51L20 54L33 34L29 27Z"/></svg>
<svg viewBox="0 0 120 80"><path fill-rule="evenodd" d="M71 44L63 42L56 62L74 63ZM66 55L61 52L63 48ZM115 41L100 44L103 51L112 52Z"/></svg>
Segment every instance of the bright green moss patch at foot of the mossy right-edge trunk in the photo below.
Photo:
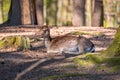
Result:
<svg viewBox="0 0 120 80"><path fill-rule="evenodd" d="M80 66L89 67L92 65L98 69L109 69L109 71L120 70L120 57L106 57L101 54L87 54L84 58L75 58L75 64Z"/></svg>

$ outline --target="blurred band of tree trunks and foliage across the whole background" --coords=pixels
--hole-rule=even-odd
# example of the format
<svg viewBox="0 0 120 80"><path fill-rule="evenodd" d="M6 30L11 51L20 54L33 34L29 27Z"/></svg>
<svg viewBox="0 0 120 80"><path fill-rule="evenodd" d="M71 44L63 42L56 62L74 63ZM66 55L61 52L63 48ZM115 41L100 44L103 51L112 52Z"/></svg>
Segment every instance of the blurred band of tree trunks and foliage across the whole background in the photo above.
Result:
<svg viewBox="0 0 120 80"><path fill-rule="evenodd" d="M0 0L7 25L104 26L120 24L120 0Z"/></svg>

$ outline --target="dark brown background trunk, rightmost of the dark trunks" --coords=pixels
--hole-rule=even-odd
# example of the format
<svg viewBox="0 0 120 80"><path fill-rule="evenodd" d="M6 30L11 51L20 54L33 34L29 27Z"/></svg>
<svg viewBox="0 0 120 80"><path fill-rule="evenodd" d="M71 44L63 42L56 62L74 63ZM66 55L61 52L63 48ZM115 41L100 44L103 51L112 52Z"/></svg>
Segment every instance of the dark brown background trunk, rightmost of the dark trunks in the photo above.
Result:
<svg viewBox="0 0 120 80"><path fill-rule="evenodd" d="M94 2L95 4L92 4L92 5L95 5L93 7L93 12L92 12L92 26L102 26L102 15L103 15L103 9L102 9L102 1L99 1L99 0L95 0Z"/></svg>

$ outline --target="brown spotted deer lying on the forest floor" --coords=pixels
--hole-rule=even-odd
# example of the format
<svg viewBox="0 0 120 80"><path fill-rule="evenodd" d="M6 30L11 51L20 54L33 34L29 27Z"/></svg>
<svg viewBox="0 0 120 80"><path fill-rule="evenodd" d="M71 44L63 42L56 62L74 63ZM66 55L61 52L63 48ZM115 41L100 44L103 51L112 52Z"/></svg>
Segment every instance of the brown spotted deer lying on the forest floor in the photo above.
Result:
<svg viewBox="0 0 120 80"><path fill-rule="evenodd" d="M43 26L41 29L47 53L79 55L95 51L94 44L83 36L64 35L51 38L50 29L47 26Z"/></svg>

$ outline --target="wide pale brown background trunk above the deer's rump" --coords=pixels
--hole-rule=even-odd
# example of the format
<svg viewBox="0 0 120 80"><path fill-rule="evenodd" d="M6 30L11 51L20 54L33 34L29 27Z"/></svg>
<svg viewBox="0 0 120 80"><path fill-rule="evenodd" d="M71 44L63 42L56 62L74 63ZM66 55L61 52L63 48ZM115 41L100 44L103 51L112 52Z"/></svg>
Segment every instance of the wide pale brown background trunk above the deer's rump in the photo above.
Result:
<svg viewBox="0 0 120 80"><path fill-rule="evenodd" d="M73 26L84 26L85 23L85 0L73 0Z"/></svg>

